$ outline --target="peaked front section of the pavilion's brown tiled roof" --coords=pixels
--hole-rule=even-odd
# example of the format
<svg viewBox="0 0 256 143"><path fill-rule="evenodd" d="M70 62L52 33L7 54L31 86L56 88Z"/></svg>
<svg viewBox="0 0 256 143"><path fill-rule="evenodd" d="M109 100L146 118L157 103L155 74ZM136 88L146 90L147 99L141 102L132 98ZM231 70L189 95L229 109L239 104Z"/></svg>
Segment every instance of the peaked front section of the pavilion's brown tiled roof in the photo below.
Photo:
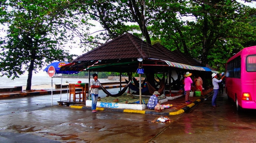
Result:
<svg viewBox="0 0 256 143"><path fill-rule="evenodd" d="M147 44L131 33L126 33L77 57L72 62L98 60L117 62L120 60L132 61L137 58L169 60L169 56L165 52Z"/></svg>

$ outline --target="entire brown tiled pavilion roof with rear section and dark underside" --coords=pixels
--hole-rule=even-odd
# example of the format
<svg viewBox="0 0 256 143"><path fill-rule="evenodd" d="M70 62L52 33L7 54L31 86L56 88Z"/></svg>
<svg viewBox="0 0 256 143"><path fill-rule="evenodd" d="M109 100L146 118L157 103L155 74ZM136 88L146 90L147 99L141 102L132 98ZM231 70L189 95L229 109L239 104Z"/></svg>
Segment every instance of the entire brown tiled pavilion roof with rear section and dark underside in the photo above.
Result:
<svg viewBox="0 0 256 143"><path fill-rule="evenodd" d="M80 71L90 67L90 70L95 71L136 72L139 65L138 58L143 59L143 68L147 69L145 71L168 71L167 63L160 60L201 66L183 53L170 51L160 44L149 45L131 33L126 33L77 57L72 61L71 67L62 66L61 69L71 70L72 68ZM157 65L157 67L150 67L150 65Z"/></svg>

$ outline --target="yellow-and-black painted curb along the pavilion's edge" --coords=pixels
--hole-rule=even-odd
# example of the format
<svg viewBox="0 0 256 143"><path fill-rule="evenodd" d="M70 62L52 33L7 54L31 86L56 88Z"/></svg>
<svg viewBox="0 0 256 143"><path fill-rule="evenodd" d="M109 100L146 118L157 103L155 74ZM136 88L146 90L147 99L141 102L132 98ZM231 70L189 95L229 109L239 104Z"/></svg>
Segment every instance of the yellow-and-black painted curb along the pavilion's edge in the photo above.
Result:
<svg viewBox="0 0 256 143"><path fill-rule="evenodd" d="M205 100L205 98L210 97L213 94L213 92L210 92L204 98L200 98L193 103L181 108L180 110L176 112L155 112L155 111L144 111L144 110L133 110L133 109L118 109L118 108L102 108L102 107L97 107L96 110L99 111L111 111L111 112L120 112L120 113L135 113L135 114L151 114L151 115L161 115L161 116L167 116L167 115L178 115L178 114L183 114L185 112L189 112L189 110L200 104ZM84 109L84 110L91 110L91 107L89 106L70 106L70 108L75 108L75 109Z"/></svg>

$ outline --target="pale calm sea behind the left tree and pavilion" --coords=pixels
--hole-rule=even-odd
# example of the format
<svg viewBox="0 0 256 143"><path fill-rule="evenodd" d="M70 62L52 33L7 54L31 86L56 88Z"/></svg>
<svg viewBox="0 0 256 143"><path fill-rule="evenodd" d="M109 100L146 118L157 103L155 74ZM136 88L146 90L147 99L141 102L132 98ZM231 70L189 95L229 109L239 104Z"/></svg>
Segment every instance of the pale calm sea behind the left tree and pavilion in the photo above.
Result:
<svg viewBox="0 0 256 143"><path fill-rule="evenodd" d="M0 88L7 88L7 87L13 87L13 86L26 86L27 84L27 76L20 76L20 78L15 78L14 80L11 80L10 78L7 78L6 76L0 77ZM77 81L82 81L82 83L88 83L88 78L62 78L62 84L69 83L77 83ZM92 78L91 78L92 80ZM105 78L99 78L100 82L114 82L115 80L108 80ZM48 75L34 75L32 76L32 86L36 85L54 85L54 84L60 84L61 78L50 78Z"/></svg>

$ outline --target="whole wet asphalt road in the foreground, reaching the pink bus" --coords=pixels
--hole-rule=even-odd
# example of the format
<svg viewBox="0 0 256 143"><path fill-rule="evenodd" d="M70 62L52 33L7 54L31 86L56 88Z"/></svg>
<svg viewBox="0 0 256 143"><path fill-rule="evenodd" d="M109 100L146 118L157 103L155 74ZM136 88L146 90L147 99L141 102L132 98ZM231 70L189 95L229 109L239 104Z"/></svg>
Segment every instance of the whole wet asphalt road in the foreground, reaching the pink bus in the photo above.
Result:
<svg viewBox="0 0 256 143"><path fill-rule="evenodd" d="M90 110L57 106L55 100L58 101L59 96L53 97L53 107L51 96L46 96L45 100L42 96L0 100L0 142L255 142L256 111L236 112L234 103L228 101L226 94L221 94L217 98L220 107L212 107L210 97L189 113L168 116L171 123L151 123L157 115L102 111L91 113ZM29 104L26 103L28 101ZM46 103L47 101L50 102ZM18 106L22 104L24 106Z"/></svg>

